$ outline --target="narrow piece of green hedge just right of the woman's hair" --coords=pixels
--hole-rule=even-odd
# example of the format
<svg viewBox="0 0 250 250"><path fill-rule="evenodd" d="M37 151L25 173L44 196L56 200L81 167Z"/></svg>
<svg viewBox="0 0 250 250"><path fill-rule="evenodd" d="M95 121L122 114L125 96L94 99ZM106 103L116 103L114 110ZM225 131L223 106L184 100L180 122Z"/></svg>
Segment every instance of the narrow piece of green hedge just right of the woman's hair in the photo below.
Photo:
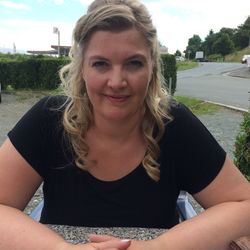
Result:
<svg viewBox="0 0 250 250"><path fill-rule="evenodd" d="M177 81L177 66L174 55L164 54L161 56L162 59L162 71L166 82L166 88L171 95L174 95L176 91ZM170 90L171 83L171 90Z"/></svg>

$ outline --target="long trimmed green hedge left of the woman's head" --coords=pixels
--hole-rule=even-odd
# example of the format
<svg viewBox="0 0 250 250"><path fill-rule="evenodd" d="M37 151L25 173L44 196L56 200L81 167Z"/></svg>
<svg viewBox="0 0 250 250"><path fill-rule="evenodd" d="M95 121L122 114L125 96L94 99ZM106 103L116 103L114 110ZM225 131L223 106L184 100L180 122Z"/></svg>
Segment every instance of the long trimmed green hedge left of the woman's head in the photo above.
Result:
<svg viewBox="0 0 250 250"><path fill-rule="evenodd" d="M60 84L59 69L68 62L67 58L39 57L0 60L0 83L3 89L8 85L15 89L54 89Z"/></svg>

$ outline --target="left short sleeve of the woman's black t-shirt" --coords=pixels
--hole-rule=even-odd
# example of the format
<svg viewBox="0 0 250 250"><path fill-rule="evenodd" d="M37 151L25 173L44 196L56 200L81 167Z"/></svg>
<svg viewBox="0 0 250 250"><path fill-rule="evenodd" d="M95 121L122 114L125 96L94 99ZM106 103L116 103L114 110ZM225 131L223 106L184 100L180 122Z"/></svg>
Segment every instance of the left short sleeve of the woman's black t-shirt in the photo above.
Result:
<svg viewBox="0 0 250 250"><path fill-rule="evenodd" d="M8 137L16 150L44 177L48 157L50 155L50 141L55 133L55 119L57 112L53 111L56 97L44 97L38 101L8 133ZM51 109L52 108L52 109Z"/></svg>

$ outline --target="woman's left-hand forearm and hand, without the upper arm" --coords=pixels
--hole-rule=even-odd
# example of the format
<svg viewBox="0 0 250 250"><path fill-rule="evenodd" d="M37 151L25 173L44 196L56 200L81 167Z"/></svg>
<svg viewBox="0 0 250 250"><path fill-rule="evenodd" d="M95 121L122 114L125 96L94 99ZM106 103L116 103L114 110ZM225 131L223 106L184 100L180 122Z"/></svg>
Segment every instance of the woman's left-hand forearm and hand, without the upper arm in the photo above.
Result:
<svg viewBox="0 0 250 250"><path fill-rule="evenodd" d="M20 210L4 205L0 205L0 221L1 250L126 250L130 245L130 241L118 239L72 245Z"/></svg>

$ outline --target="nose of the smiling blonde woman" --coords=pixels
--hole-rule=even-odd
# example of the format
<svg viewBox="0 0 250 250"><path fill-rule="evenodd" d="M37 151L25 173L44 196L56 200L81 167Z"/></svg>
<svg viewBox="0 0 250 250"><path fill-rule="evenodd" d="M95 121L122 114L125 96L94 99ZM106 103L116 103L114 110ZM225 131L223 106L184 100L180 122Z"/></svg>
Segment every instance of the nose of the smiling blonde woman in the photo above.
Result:
<svg viewBox="0 0 250 250"><path fill-rule="evenodd" d="M117 89L127 86L126 74L121 67L114 67L110 71L108 86Z"/></svg>

